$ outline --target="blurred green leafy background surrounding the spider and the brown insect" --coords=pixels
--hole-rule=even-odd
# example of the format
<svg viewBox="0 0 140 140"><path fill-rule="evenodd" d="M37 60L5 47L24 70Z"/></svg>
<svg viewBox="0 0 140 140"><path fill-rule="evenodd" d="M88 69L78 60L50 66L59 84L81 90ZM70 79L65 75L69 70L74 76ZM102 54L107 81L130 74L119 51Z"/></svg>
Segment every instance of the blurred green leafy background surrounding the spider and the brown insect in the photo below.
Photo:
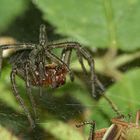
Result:
<svg viewBox="0 0 140 140"><path fill-rule="evenodd" d="M92 54L105 94L123 114L135 117L140 109L139 5L139 0L0 0L0 44L7 37L38 43L42 23L47 26L50 42L78 41ZM12 94L11 67L8 58L4 58L0 140L84 140L89 128L78 129L75 124L95 120L96 129L110 125L115 112L104 98L91 97L75 56L71 67L75 73L73 83L67 78L63 87L44 88L42 97L33 88L39 120L31 131ZM17 81L20 95L32 110L24 82L19 78Z"/></svg>

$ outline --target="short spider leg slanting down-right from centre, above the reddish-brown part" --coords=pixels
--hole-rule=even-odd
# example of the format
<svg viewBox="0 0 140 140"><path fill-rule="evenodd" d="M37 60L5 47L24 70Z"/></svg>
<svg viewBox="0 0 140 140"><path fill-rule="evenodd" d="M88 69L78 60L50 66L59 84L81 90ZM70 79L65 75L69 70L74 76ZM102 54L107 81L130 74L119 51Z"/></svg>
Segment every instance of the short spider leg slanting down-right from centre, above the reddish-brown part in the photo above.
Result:
<svg viewBox="0 0 140 140"><path fill-rule="evenodd" d="M74 81L74 74L72 72L72 70L69 68L69 66L63 61L61 60L60 58L58 58L56 55L52 54L50 51L46 50L45 51L46 55L51 58L51 60L53 60L55 63L57 64L60 64L60 65L65 65L68 72L69 72L69 75L70 75L70 79L71 81Z"/></svg>

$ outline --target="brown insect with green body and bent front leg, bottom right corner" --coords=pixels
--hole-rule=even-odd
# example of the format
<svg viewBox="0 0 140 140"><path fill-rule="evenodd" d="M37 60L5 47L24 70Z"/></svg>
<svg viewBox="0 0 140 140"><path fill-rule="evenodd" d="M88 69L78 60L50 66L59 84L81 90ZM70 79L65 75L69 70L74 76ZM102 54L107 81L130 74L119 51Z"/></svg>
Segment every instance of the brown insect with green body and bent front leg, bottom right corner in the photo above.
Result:
<svg viewBox="0 0 140 140"><path fill-rule="evenodd" d="M124 118L114 118L109 128L103 128L95 132L95 122L83 122L76 127L90 124L91 130L88 140L139 140L140 139L140 111L137 111L136 122L126 122Z"/></svg>

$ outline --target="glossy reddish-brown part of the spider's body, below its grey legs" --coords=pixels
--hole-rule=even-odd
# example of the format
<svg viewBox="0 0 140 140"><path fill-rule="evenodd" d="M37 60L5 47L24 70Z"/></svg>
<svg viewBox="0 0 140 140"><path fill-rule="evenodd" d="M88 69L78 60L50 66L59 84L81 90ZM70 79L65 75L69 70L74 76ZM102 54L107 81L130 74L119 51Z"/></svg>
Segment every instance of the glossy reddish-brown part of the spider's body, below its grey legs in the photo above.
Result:
<svg viewBox="0 0 140 140"><path fill-rule="evenodd" d="M45 73L41 78L39 71L35 71L36 80L32 80L33 86L51 86L53 88L65 84L67 68L64 65L47 64L45 65Z"/></svg>

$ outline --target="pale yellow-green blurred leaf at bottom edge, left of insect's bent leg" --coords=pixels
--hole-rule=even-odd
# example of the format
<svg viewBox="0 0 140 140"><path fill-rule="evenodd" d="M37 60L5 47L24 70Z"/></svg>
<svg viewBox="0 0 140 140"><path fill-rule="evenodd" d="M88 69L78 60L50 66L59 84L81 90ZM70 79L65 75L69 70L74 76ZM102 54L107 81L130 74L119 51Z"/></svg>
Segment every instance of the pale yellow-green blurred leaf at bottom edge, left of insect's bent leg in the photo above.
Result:
<svg viewBox="0 0 140 140"><path fill-rule="evenodd" d="M76 127L66 125L65 123L53 120L52 122L43 122L41 126L60 140L83 140L82 135L76 130Z"/></svg>

